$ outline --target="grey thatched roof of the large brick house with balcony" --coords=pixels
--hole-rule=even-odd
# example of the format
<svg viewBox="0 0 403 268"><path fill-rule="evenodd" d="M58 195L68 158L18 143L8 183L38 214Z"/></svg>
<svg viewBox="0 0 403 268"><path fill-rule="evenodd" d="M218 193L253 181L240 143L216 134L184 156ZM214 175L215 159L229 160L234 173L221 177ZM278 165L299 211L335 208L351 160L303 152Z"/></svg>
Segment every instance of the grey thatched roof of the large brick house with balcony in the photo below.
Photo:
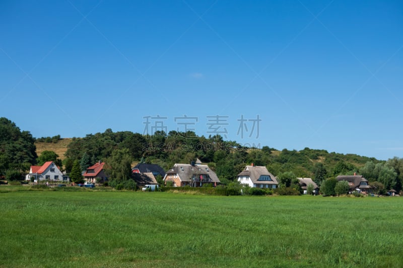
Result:
<svg viewBox="0 0 403 268"><path fill-rule="evenodd" d="M208 165L174 164L167 174L178 174L181 182L191 182L193 175L208 175L214 183L220 183L217 174Z"/></svg>

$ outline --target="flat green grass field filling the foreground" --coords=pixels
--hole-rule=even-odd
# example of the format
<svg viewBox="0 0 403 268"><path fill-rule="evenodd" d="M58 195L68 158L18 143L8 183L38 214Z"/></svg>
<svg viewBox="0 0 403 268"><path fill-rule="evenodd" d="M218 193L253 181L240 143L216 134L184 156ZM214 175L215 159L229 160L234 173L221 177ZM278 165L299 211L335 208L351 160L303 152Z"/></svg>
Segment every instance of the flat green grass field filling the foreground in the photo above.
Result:
<svg viewBox="0 0 403 268"><path fill-rule="evenodd" d="M399 197L16 191L0 202L1 267L403 266Z"/></svg>

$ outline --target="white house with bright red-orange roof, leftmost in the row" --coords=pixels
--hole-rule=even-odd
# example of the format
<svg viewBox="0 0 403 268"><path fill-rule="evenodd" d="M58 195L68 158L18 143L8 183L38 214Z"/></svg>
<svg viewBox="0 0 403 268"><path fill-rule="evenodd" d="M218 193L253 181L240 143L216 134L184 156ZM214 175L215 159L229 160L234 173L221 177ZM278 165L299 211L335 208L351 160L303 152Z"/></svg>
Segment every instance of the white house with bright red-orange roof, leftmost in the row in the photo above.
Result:
<svg viewBox="0 0 403 268"><path fill-rule="evenodd" d="M45 162L43 165L31 165L25 180L29 181L31 177L38 181L70 181L69 177L63 175L53 161Z"/></svg>

